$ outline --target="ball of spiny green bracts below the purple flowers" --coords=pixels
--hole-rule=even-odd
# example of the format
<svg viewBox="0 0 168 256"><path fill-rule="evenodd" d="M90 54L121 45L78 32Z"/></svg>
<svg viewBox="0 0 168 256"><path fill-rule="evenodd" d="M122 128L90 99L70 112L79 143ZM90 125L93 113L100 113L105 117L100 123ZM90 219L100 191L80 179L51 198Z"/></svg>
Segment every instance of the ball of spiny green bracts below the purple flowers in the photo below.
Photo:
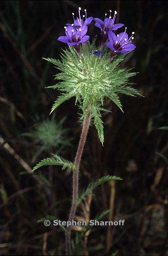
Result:
<svg viewBox="0 0 168 256"><path fill-rule="evenodd" d="M124 55L110 60L107 49L101 56L96 56L95 51L95 43L87 42L80 46L80 54L75 48L69 47L61 53L61 60L50 58L45 60L55 64L61 71L55 76L59 82L48 87L61 91L61 96L54 102L51 112L65 100L76 97L76 103L83 111L82 118L86 111L91 113L99 139L103 144L103 122L100 111L106 111L103 108L105 98L110 98L122 110L119 93L130 96L141 94L128 82L129 78L136 73L130 72L130 69L119 68Z"/></svg>

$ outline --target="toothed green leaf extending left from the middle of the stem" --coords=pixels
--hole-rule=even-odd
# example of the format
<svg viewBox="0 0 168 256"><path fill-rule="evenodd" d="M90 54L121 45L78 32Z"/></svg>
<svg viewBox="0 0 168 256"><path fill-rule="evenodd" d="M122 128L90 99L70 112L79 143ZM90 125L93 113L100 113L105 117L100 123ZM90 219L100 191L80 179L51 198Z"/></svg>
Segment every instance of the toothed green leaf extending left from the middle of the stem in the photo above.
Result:
<svg viewBox="0 0 168 256"><path fill-rule="evenodd" d="M66 168L68 168L69 170L76 169L75 165L72 162L65 160L61 156L54 154L53 157L51 157L51 158L47 157L47 158L41 160L38 164L36 164L36 166L34 166L32 171L34 172L36 169L38 169L42 166L45 166L45 165L61 165L62 170L65 170Z"/></svg>

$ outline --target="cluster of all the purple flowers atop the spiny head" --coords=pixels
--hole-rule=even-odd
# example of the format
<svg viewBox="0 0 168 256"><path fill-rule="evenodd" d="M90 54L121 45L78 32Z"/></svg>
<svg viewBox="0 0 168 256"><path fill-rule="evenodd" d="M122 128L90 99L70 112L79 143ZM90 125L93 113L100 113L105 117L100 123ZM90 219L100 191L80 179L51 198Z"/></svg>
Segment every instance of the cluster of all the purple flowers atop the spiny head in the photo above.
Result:
<svg viewBox="0 0 168 256"><path fill-rule="evenodd" d="M73 23L67 23L65 28L65 35L60 36L58 38L59 41L68 44L69 46L73 46L78 53L80 53L79 45L89 40L89 36L86 35L88 32L88 26L92 24L92 21L95 21L95 27L101 30L101 45L99 51L93 52L96 56L102 56L102 50L106 45L107 48L111 49L111 57L115 56L117 52L119 53L127 53L133 51L136 46L132 44L132 40L134 39L132 35L128 36L126 33L126 28L124 32L119 34L115 34L113 31L116 31L118 28L122 28L124 24L122 23L115 23L117 12L115 11L113 18L111 17L111 10L110 15L107 18L107 13L105 13L104 20L99 18L87 17L87 11L84 10L85 15L81 16L81 8L79 7L79 16L75 19L74 13L73 14Z"/></svg>

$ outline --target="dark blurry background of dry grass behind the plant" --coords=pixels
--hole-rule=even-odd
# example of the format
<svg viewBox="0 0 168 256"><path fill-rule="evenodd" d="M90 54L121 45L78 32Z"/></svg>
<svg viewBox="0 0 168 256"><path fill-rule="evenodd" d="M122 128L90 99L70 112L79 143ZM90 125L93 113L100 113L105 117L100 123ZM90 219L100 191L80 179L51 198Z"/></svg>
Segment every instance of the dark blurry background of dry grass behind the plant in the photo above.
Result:
<svg viewBox="0 0 168 256"><path fill-rule="evenodd" d="M59 167L44 167L32 176L30 169L60 145L45 149L32 162L40 144L31 135L59 95L45 88L53 84L57 70L42 57L58 58L65 44L57 38L79 6L102 19L109 9L117 10L119 22L135 31L137 48L124 65L139 72L132 81L145 98L122 96L124 114L107 100L112 113L103 114L104 147L95 128L89 130L80 189L107 174L123 179L115 188L103 184L94 191L90 218L110 208L115 192L112 218L126 222L109 229L110 245L108 228L94 228L87 248L79 245L76 254L168 255L168 131L158 129L168 126L167 1L0 1L0 253L65 253L64 233L37 221L47 214L67 220L72 176ZM91 25L89 34L97 32ZM62 104L53 120L64 116L63 129L69 130L63 140L72 141L59 153L73 161L81 129L74 100Z"/></svg>

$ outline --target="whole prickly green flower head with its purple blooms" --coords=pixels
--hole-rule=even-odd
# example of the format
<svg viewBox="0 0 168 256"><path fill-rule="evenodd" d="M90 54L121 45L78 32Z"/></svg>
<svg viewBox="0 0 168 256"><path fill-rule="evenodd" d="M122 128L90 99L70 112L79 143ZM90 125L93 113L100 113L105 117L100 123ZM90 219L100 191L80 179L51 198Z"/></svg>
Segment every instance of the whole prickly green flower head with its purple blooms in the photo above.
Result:
<svg viewBox="0 0 168 256"><path fill-rule="evenodd" d="M97 42L95 43L95 40L90 43L86 33L93 18L87 18L86 10L85 17L81 17L80 11L81 8L79 8L77 19L73 14L73 24L66 24L66 36L58 38L61 42L68 44L68 48L61 53L59 60L46 59L60 71L55 76L57 84L49 87L57 88L61 92L54 102L51 112L65 100L74 97L82 111L81 119L87 112L90 112L103 144L101 112L107 111L103 108L105 99L110 98L122 110L119 94L140 95L129 83L129 78L135 73L130 72L130 69L119 67L124 59L122 53L132 51L135 46L131 43L133 37L128 39L126 31L119 33L118 36L112 32L123 25L115 24L116 12L113 19L111 19L111 14L109 18L105 17L104 21L98 18L94 19L95 25L109 36L110 42L107 43L107 47L104 47L104 38L103 47L102 41L99 45Z"/></svg>

